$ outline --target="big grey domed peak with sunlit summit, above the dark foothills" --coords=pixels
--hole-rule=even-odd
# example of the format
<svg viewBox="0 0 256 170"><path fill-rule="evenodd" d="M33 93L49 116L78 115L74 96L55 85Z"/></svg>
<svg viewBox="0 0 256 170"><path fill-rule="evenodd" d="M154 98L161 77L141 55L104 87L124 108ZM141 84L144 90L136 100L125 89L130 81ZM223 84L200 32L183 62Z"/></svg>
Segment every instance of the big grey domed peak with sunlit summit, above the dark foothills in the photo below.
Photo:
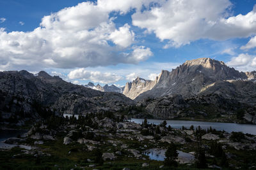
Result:
<svg viewBox="0 0 256 170"><path fill-rule="evenodd" d="M189 60L171 72L163 70L154 87L140 94L135 101L170 94L197 96L214 83L227 80L255 81L255 72L239 72L226 66L224 62L209 58Z"/></svg>

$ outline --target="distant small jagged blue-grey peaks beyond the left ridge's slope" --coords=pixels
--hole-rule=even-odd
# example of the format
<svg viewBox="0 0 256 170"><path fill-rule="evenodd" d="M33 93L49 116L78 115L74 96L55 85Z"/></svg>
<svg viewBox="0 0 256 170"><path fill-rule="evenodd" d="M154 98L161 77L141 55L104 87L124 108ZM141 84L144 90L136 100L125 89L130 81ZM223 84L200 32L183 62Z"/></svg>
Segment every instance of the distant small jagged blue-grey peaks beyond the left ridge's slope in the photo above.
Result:
<svg viewBox="0 0 256 170"><path fill-rule="evenodd" d="M84 87L88 87L94 90L99 90L101 92L118 92L118 93L123 92L123 89L122 89L123 87L119 88L119 87L116 87L115 85L104 85L104 87L102 87L99 84L94 85L92 82L89 82L87 85L84 85Z"/></svg>

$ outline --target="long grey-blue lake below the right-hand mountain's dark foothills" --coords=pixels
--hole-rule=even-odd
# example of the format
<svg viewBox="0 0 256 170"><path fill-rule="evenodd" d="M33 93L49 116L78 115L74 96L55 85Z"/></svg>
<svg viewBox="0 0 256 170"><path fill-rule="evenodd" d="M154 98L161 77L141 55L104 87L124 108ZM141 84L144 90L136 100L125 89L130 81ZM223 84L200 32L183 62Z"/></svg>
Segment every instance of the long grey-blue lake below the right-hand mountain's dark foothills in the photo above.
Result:
<svg viewBox="0 0 256 170"><path fill-rule="evenodd" d="M137 124L141 124L144 121L143 118L131 118L131 122L135 122ZM147 119L148 124L155 124L159 125L164 120L159 119ZM256 125L252 124L232 124L232 123L218 123L218 122L198 122L198 121L186 121L186 120L166 120L167 127L170 125L173 128L182 128L182 126L189 128L191 125L194 128L202 127L202 129L207 129L212 127L218 131L226 131L226 132L244 132L248 134L255 134L256 135Z"/></svg>

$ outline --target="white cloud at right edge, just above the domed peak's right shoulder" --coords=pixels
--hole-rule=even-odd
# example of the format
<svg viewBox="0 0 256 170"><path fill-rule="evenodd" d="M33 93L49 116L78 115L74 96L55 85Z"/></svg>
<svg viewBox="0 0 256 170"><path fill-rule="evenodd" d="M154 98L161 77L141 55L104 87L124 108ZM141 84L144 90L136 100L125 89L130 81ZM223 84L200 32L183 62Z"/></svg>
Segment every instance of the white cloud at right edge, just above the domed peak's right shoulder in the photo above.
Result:
<svg viewBox="0 0 256 170"><path fill-rule="evenodd" d="M256 56L241 53L227 62L227 66L235 67L239 71L253 71L256 69Z"/></svg>

